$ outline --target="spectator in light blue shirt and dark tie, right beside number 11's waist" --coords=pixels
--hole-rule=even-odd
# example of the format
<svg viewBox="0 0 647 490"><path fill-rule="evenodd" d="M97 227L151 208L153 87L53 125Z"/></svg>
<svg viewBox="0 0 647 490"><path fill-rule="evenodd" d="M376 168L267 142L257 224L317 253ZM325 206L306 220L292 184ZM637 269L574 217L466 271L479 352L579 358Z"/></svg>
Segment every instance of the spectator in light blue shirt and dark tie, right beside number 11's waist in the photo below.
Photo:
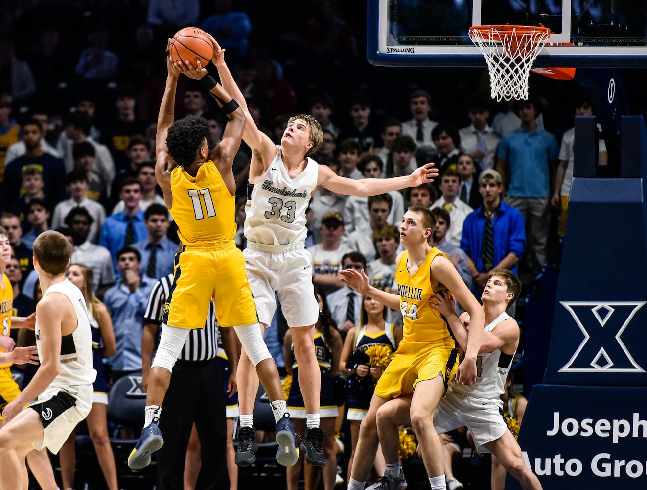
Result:
<svg viewBox="0 0 647 490"><path fill-rule="evenodd" d="M177 244L166 236L170 226L166 206L153 203L146 208L144 215L148 238L133 244L133 247L142 254L139 274L160 279L165 275L173 274Z"/></svg>

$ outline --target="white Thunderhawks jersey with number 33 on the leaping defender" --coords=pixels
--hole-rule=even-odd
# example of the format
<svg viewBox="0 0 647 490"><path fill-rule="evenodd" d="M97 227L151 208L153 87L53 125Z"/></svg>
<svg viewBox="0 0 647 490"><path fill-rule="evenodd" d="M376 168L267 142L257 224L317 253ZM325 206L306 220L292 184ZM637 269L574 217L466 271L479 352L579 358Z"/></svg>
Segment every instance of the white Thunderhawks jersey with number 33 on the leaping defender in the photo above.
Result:
<svg viewBox="0 0 647 490"><path fill-rule="evenodd" d="M305 211L317 186L319 164L307 157L303 172L291 179L281 159L281 146L276 148L276 156L248 194L245 237L266 245L305 242Z"/></svg>

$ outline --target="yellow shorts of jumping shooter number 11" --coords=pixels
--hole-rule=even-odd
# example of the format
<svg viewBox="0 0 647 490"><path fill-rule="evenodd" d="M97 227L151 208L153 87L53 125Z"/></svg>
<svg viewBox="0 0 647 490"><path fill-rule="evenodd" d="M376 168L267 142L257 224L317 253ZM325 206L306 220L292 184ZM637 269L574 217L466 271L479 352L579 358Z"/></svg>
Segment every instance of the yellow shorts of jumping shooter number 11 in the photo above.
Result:
<svg viewBox="0 0 647 490"><path fill-rule="evenodd" d="M258 322L243 253L233 242L186 246L175 257L173 285L162 321L171 327L202 329L212 298L219 326Z"/></svg>

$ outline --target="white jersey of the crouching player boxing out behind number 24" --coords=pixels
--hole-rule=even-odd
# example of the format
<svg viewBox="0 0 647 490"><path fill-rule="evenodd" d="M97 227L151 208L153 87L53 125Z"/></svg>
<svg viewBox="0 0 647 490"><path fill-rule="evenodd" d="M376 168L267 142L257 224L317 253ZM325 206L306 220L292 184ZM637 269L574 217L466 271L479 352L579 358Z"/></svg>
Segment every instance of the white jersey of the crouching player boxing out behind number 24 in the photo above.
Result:
<svg viewBox="0 0 647 490"><path fill-rule="evenodd" d="M486 325L483 332L491 332L503 320L512 318L505 311L496 317L492 323ZM516 352L516 351L515 351ZM479 354L476 358L476 383L472 385L452 382L452 389L469 393L470 396L482 399L498 400L505 389L505 379L512 366L514 353L504 354L499 349L492 352Z"/></svg>

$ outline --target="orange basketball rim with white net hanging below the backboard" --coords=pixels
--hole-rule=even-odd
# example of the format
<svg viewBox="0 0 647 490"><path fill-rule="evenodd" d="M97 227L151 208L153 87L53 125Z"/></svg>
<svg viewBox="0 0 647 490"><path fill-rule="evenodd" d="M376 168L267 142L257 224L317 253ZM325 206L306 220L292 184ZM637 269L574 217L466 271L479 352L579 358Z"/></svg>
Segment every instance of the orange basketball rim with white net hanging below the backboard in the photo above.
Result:
<svg viewBox="0 0 647 490"><path fill-rule="evenodd" d="M479 25L470 27L470 39L485 57L490 71L492 99L528 99L532 62L551 35L547 27Z"/></svg>

